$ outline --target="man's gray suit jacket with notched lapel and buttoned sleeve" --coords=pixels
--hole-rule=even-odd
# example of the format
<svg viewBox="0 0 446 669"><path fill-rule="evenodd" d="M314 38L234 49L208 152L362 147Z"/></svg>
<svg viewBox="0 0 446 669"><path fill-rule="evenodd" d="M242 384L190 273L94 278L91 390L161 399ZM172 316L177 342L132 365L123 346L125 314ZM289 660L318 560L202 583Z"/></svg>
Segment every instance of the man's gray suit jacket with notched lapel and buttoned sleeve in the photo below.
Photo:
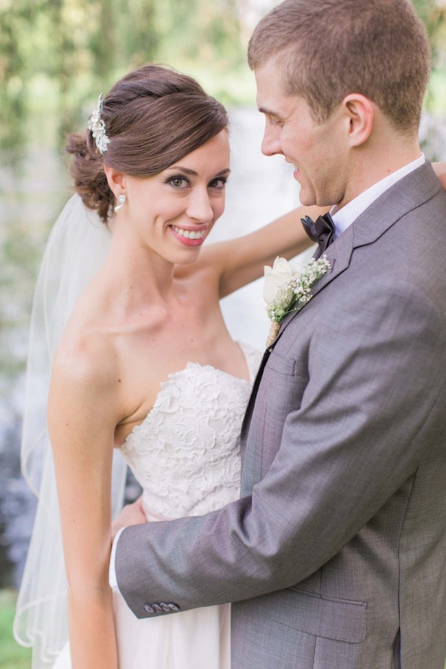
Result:
<svg viewBox="0 0 446 669"><path fill-rule="evenodd" d="M233 669L443 669L445 255L429 164L329 247L263 357L242 498L122 533L135 615L235 602Z"/></svg>

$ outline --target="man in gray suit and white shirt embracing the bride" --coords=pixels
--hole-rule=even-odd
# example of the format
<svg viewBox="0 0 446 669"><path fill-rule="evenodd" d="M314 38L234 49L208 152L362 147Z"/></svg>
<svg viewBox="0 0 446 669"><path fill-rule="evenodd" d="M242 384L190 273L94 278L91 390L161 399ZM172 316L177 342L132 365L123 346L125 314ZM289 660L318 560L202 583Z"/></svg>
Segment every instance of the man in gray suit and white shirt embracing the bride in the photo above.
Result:
<svg viewBox="0 0 446 669"><path fill-rule="evenodd" d="M126 528L119 589L139 618L234 602L233 669L443 669L446 194L417 141L425 31L408 0L285 0L248 58L263 153L294 163L303 204L336 202L331 270L263 357L242 498Z"/></svg>

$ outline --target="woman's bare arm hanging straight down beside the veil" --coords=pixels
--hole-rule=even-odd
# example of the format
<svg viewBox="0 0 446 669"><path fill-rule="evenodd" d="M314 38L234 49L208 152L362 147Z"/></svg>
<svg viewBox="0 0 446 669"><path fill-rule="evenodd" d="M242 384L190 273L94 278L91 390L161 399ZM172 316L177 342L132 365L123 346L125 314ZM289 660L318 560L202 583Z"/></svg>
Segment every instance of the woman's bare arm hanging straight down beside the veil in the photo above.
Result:
<svg viewBox="0 0 446 669"><path fill-rule="evenodd" d="M87 342L82 349L58 354L48 412L69 584L71 661L73 669L117 669L108 586L117 378L104 347Z"/></svg>

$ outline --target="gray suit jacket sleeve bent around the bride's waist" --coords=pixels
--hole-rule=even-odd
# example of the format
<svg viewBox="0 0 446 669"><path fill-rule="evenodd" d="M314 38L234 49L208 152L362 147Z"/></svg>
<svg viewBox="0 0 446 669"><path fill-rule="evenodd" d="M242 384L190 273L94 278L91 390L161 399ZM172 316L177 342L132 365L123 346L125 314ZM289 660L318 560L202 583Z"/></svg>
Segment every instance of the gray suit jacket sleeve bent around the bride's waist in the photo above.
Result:
<svg viewBox="0 0 446 669"><path fill-rule="evenodd" d="M301 406L252 494L122 533L117 580L135 615L150 602L185 610L266 594L337 554L438 448L444 333L434 305L405 282L352 287L325 309Z"/></svg>

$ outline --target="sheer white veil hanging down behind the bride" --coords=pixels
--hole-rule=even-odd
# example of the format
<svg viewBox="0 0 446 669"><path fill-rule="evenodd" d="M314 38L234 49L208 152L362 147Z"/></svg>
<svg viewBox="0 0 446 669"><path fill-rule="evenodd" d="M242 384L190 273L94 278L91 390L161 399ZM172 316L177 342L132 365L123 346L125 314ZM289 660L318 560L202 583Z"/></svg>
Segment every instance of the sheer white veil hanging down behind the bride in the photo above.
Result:
<svg viewBox="0 0 446 669"><path fill-rule="evenodd" d="M38 505L14 618L16 641L34 647L32 669L53 666L68 640L67 578L46 420L51 364L64 325L104 262L110 239L97 213L86 209L80 196L73 196L49 236L34 295L21 466ZM126 465L115 451L113 515L123 504L125 477Z"/></svg>

